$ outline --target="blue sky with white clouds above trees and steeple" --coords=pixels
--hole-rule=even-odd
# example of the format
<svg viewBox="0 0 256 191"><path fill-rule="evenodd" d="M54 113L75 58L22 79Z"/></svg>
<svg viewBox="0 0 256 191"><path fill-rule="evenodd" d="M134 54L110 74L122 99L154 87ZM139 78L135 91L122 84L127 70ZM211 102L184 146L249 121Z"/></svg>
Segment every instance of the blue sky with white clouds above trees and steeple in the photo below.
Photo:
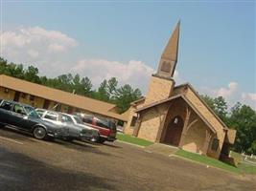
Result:
<svg viewBox="0 0 256 191"><path fill-rule="evenodd" d="M144 95L180 20L176 85L256 109L255 1L0 1L1 56Z"/></svg>

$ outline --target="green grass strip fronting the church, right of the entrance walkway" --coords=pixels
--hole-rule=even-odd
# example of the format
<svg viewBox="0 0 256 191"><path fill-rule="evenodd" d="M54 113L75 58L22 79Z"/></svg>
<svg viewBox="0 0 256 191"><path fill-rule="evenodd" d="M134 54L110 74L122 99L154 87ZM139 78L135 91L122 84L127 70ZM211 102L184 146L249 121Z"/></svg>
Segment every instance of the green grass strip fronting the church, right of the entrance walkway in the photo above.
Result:
<svg viewBox="0 0 256 191"><path fill-rule="evenodd" d="M214 166L216 168L221 168L223 170L226 170L226 171L230 171L230 172L233 172L233 173L237 173L237 174L241 174L242 171L240 168L237 168L237 167L234 167L234 166L231 166L229 164L226 164L218 159L212 159L212 158L208 158L208 157L205 157L205 156L200 156L198 154L195 154L195 153L190 153L190 152L187 152L187 151L184 151L184 150L178 150L175 155L179 156L179 157L182 157L182 158L186 158L186 159L192 159L192 160L195 160L195 161L198 161L200 163L203 163L203 164L206 164L206 165L209 165L209 166Z"/></svg>

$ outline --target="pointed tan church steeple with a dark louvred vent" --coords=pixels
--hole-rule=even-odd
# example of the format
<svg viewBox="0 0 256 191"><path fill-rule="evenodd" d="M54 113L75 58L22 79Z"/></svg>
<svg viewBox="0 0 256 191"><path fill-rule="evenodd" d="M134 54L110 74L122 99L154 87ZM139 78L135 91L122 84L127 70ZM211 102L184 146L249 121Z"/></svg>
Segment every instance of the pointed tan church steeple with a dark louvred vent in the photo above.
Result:
<svg viewBox="0 0 256 191"><path fill-rule="evenodd" d="M175 31L173 32L168 44L162 53L156 76L172 78L175 74L175 66L178 54L180 21L178 21Z"/></svg>

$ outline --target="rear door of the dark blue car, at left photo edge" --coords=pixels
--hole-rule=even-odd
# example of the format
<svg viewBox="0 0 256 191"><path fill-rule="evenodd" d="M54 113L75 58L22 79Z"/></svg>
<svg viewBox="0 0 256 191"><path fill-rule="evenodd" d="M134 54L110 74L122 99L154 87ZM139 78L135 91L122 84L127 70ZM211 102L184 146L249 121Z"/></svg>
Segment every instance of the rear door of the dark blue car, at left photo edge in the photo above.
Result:
<svg viewBox="0 0 256 191"><path fill-rule="evenodd" d="M3 101L0 105L0 122L9 124L10 118L12 118L12 102Z"/></svg>

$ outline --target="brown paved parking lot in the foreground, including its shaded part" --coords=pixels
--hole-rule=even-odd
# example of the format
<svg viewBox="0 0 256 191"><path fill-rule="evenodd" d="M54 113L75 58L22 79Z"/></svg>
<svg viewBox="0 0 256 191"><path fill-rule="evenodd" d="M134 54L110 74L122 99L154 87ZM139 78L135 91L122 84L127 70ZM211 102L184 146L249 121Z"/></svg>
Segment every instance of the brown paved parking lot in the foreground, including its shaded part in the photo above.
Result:
<svg viewBox="0 0 256 191"><path fill-rule="evenodd" d="M115 142L40 141L0 129L0 191L255 190L256 179Z"/></svg>

